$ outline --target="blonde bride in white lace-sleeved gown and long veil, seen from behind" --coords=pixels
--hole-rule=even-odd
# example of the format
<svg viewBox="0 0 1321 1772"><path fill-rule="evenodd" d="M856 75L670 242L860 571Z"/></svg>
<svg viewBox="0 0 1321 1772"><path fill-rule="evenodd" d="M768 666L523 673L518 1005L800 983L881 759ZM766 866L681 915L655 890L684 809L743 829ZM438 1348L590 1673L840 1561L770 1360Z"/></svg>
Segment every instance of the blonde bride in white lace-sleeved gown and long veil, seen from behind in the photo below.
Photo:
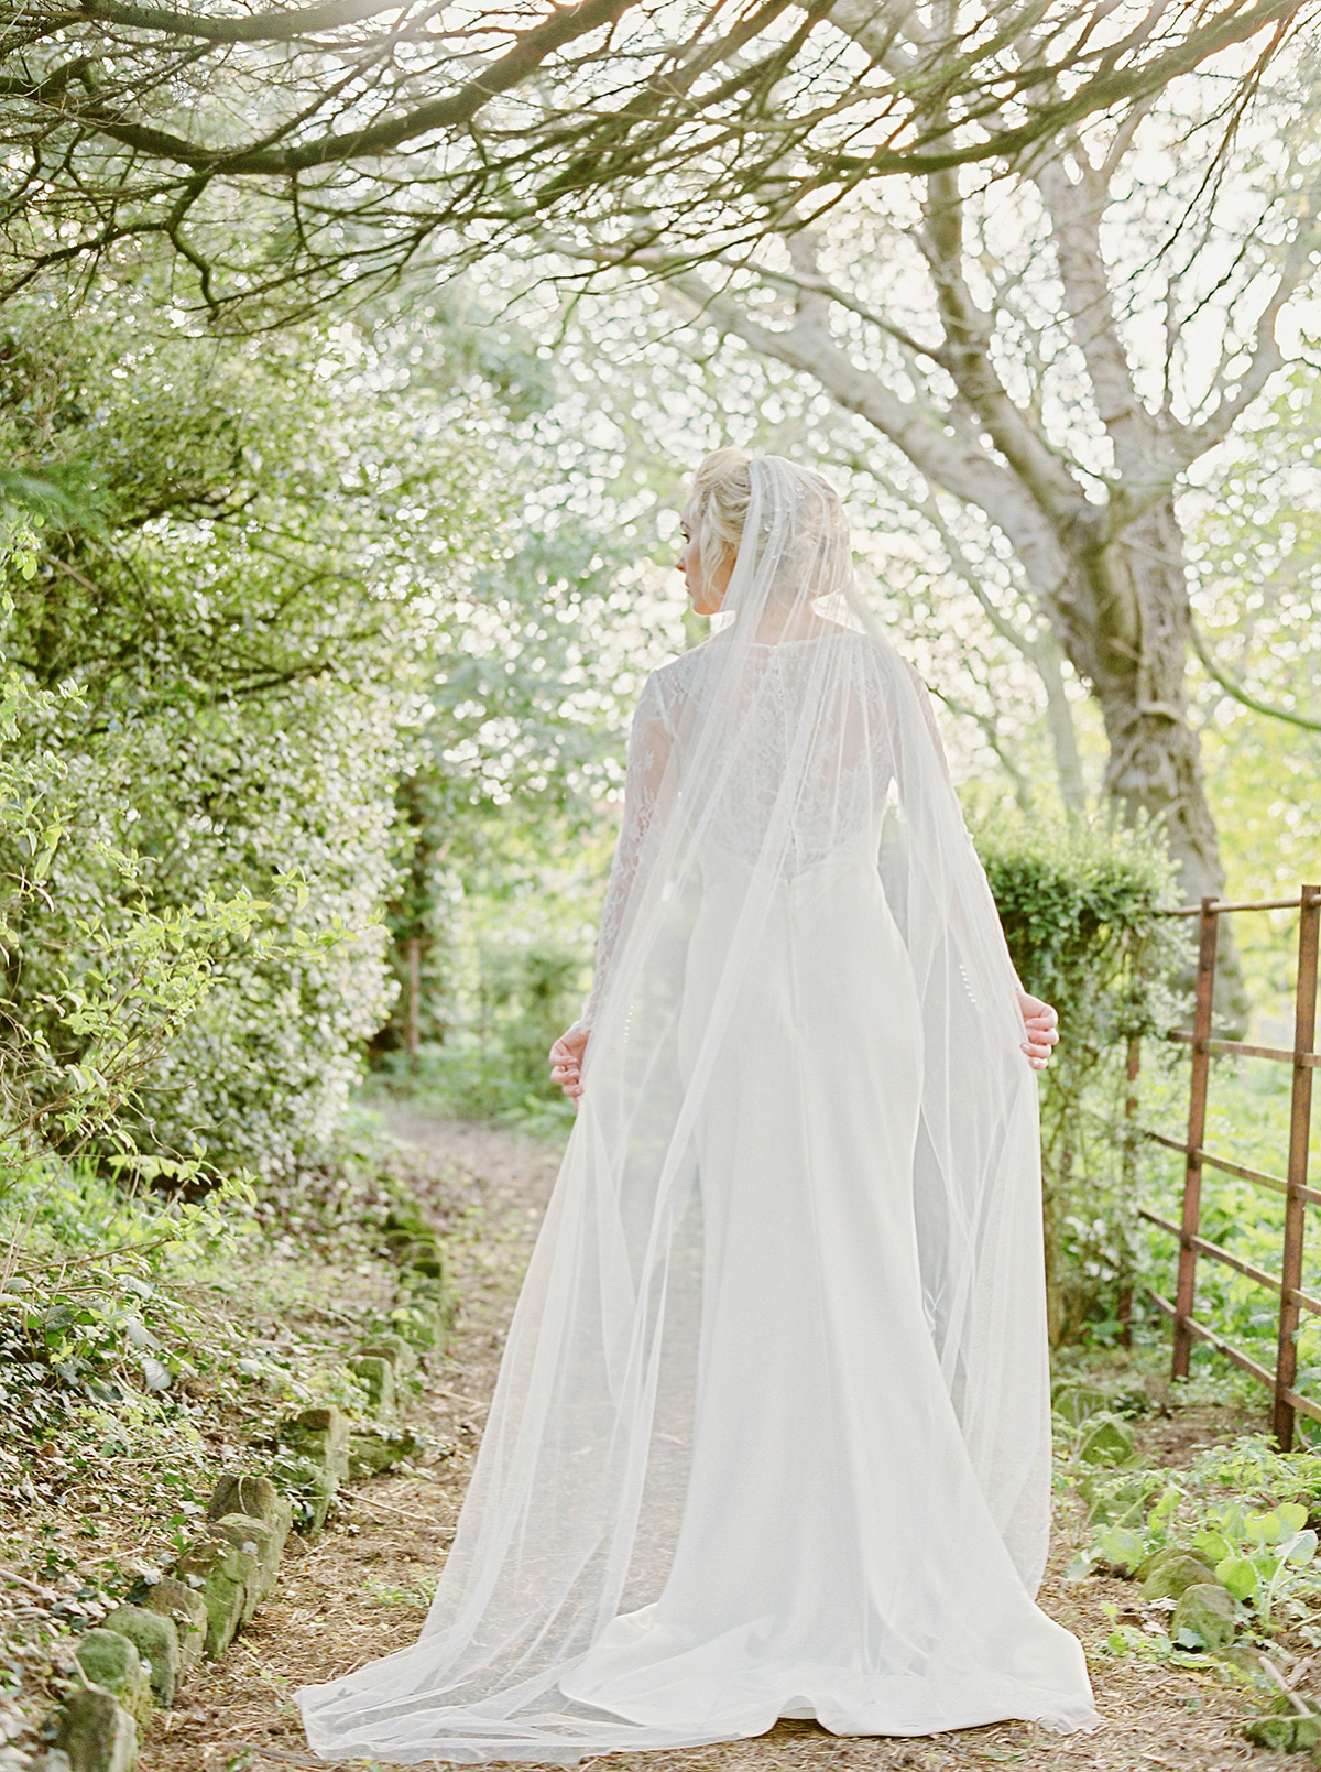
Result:
<svg viewBox="0 0 1321 1772"><path fill-rule="evenodd" d="M719 450L684 517L717 631L634 719L574 1134L423 1634L299 1694L326 1758L1096 1722L1032 1600L1055 1014L836 493Z"/></svg>

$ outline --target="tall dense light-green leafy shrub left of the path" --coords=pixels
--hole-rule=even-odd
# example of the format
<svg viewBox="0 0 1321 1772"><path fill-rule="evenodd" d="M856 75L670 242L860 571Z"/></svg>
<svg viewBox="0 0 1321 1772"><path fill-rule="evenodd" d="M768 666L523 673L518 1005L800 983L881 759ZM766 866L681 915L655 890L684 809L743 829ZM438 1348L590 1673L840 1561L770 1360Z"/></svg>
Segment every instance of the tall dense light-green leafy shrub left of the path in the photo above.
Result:
<svg viewBox="0 0 1321 1772"><path fill-rule="evenodd" d="M143 1028L112 1143L287 1175L390 1006L425 599L471 571L499 494L443 424L444 377L402 402L354 328L161 337L159 298L104 291L78 330L7 310L0 448L60 496L35 500L0 636L16 766L58 783L5 1012L30 1054L89 1063L104 1042L71 1005L119 992ZM151 932L195 975L165 1019Z"/></svg>

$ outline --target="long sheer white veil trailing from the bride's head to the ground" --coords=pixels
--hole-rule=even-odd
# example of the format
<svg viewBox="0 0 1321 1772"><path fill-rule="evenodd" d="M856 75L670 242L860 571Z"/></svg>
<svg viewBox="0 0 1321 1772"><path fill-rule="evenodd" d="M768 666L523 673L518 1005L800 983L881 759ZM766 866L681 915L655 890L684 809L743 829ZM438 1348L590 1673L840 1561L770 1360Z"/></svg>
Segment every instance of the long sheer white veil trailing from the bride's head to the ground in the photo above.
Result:
<svg viewBox="0 0 1321 1772"><path fill-rule="evenodd" d="M928 1338L924 1359L935 1350L940 1407L1011 1579L1036 1591L1048 1375L1016 978L924 689L854 592L843 510L820 475L751 462L717 622L637 707L581 1111L430 1616L413 1648L299 1694L326 1756L551 1761L728 1733L629 1721L584 1701L574 1669L611 1621L659 1598L691 1510L717 1134L751 1148L767 1120L790 1141L802 1122L811 1148L848 1076L914 1095L901 1173L861 1185L910 1201L914 1336ZM901 992L861 1010L866 957L832 909L845 875L877 882L907 955ZM745 1010L779 964L772 950L811 953L786 976L815 994L799 1003L790 982L776 998L788 1008L763 1030L779 1067L769 1090L772 1045L763 1054ZM873 1024L898 1054L878 1065ZM811 1276L813 1260L804 1247L804 1286L829 1301L829 1263Z"/></svg>

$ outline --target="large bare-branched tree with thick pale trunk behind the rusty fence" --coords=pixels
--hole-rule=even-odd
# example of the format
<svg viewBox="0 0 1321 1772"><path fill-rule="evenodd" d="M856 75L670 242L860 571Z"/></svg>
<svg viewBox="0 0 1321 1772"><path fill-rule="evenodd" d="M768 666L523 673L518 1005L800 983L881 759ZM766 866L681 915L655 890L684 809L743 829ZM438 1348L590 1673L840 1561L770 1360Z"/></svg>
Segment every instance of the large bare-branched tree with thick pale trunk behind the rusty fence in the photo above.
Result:
<svg viewBox="0 0 1321 1772"><path fill-rule="evenodd" d="M1162 820L1194 898L1224 870L1176 500L1286 363L1282 321L1321 250L1305 94L1273 136L1255 119L1232 177L1197 152L1195 101L1068 131L999 188L939 168L721 276L645 255L691 315L809 376L1008 539L1048 622L1025 650L1066 797L1061 652L1100 707L1109 794Z"/></svg>

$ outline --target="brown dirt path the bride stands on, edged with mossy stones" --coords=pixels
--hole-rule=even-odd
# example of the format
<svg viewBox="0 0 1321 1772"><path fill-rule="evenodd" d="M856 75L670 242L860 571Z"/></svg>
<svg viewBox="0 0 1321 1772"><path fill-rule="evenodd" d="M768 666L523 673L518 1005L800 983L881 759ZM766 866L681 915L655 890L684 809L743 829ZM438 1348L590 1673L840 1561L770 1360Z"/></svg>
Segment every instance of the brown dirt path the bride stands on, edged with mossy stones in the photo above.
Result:
<svg viewBox="0 0 1321 1772"><path fill-rule="evenodd" d="M228 1655L189 1687L182 1710L156 1722L142 1772L264 1772L319 1767L303 1745L290 1692L411 1643L453 1536L505 1327L554 1180L556 1155L485 1127L391 1113L390 1129L416 1146L418 1194L453 1249L460 1315L446 1359L432 1373L416 1419L436 1448L413 1471L363 1485L312 1547L292 1542L276 1595ZM956 1531L956 1522L951 1522ZM836 1738L816 1724L781 1722L749 1742L669 1754L618 1754L604 1772L834 1772L1015 1763L1024 1768L1179 1772L1268 1761L1231 1731L1243 1715L1229 1676L1170 1667L1103 1650L1110 1621L1133 1589L1123 1582L1061 1579L1077 1549L1071 1506L1061 1506L1041 1604L1087 1650L1105 1726L1052 1737L997 1724L924 1740Z"/></svg>

